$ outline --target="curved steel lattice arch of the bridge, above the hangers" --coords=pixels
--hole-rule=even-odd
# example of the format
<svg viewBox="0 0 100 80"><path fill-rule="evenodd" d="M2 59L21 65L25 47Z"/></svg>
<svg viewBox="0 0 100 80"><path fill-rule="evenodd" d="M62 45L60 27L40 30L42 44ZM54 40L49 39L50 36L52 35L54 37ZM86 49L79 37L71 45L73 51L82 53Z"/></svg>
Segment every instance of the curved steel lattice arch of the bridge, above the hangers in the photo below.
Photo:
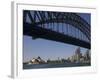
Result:
<svg viewBox="0 0 100 80"><path fill-rule="evenodd" d="M42 24L49 23L65 23L70 24L73 27L80 30L89 40L89 45L91 42L91 30L90 24L88 24L83 18L81 18L76 13L68 12L49 12L49 11L24 11L24 24L27 23L26 15L29 16L31 24L34 26L39 26ZM36 19L38 18L38 20Z"/></svg>

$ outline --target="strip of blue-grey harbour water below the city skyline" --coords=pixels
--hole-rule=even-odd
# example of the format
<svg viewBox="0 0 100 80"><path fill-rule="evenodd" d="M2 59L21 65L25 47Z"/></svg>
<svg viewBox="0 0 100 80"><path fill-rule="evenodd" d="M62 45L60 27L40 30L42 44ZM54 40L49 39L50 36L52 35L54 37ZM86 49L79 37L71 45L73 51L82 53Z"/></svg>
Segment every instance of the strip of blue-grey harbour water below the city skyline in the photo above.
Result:
<svg viewBox="0 0 100 80"><path fill-rule="evenodd" d="M23 64L23 69L60 68L60 67L78 67L78 66L90 66L90 64L83 64L83 63Z"/></svg>

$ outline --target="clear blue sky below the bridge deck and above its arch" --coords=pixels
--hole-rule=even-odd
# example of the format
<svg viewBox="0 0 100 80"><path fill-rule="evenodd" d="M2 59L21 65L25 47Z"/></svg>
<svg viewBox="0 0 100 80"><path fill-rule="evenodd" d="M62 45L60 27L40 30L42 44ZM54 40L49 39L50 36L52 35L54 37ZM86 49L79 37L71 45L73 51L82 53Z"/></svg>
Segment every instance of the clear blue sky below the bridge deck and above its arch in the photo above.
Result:
<svg viewBox="0 0 100 80"><path fill-rule="evenodd" d="M90 24L90 14L78 13L84 20ZM68 58L74 55L78 46L65 44L61 42L46 40L42 38L32 39L29 36L23 36L23 62L40 56L44 60L55 60L58 58ZM81 53L85 53L87 49L81 48Z"/></svg>

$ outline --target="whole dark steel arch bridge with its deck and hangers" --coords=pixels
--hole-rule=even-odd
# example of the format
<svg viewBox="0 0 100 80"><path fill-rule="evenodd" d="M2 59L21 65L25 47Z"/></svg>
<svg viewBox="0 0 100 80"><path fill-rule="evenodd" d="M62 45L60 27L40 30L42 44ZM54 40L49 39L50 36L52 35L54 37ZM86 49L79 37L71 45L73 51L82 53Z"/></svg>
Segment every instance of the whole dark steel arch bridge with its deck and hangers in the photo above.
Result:
<svg viewBox="0 0 100 80"><path fill-rule="evenodd" d="M23 34L33 39L44 38L90 49L90 28L76 13L23 11Z"/></svg>

